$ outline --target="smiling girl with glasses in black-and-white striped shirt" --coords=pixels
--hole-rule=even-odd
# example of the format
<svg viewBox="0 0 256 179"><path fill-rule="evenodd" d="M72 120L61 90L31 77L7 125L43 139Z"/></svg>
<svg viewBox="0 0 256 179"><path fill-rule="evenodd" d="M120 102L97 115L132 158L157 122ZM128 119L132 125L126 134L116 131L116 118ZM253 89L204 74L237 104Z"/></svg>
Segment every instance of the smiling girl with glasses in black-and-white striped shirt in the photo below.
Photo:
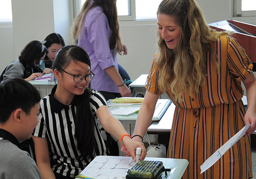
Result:
<svg viewBox="0 0 256 179"><path fill-rule="evenodd" d="M91 89L94 73L82 48L62 47L53 72L58 83L40 101L39 123L32 136L42 178L74 178L95 156L108 154L97 118L107 132L121 139L134 161L137 147L142 149L140 160L145 158L144 144L126 134L104 97Z"/></svg>

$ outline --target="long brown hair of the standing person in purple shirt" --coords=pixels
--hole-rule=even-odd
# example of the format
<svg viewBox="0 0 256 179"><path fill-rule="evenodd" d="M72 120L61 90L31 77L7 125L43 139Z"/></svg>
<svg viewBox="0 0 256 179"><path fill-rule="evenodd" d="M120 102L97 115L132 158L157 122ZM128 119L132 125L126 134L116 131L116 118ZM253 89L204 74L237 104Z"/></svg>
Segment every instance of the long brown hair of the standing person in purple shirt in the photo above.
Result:
<svg viewBox="0 0 256 179"><path fill-rule="evenodd" d="M80 36L81 27L84 23L84 18L89 10L94 7L101 7L103 13L106 15L109 21L109 26L111 29L111 36L110 36L110 49L116 48L116 52L122 52L122 43L121 38L119 35L119 24L118 24L118 17L117 17L117 9L116 9L116 0L94 0L92 5L90 6L92 0L87 0L82 8L80 13L74 19L74 23L71 28L72 37L74 43L78 43L78 39Z"/></svg>

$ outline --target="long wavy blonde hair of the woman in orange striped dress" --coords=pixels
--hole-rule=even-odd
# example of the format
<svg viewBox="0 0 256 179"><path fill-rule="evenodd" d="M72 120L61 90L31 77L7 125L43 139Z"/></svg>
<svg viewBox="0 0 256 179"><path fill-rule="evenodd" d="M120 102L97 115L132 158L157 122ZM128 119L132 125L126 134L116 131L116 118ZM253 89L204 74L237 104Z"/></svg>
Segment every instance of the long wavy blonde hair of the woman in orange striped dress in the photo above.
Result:
<svg viewBox="0 0 256 179"><path fill-rule="evenodd" d="M199 92L199 87L205 85L206 54L216 59L217 54L210 47L210 42L217 41L221 35L228 32L216 32L207 25L203 13L194 0L163 0L157 14L173 17L181 30L175 49L168 49L165 41L159 35L158 59L159 87L162 92L171 89L176 100L182 101L182 94Z"/></svg>

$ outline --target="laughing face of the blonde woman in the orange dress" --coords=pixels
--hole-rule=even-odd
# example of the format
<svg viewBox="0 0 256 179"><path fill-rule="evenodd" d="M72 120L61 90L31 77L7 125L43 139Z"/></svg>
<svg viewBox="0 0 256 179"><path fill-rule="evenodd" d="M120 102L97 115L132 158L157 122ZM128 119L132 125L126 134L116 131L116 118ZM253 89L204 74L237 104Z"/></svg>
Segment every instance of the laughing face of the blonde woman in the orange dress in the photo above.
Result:
<svg viewBox="0 0 256 179"><path fill-rule="evenodd" d="M158 33L165 41L168 49L175 49L180 39L181 30L176 24L175 18L166 14L157 16Z"/></svg>

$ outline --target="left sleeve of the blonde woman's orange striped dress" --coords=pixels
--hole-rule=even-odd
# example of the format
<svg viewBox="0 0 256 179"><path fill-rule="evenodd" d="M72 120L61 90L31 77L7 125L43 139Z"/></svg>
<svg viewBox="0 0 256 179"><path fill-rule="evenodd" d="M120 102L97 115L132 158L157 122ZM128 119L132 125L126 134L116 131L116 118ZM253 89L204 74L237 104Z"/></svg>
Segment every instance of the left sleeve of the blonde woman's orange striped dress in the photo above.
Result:
<svg viewBox="0 0 256 179"><path fill-rule="evenodd" d="M148 73L147 81L145 85L145 88L147 89L148 92L151 92L156 95L160 95L162 93L158 86L158 77L159 77L159 71L157 68L157 53L156 53L152 60L150 72Z"/></svg>

